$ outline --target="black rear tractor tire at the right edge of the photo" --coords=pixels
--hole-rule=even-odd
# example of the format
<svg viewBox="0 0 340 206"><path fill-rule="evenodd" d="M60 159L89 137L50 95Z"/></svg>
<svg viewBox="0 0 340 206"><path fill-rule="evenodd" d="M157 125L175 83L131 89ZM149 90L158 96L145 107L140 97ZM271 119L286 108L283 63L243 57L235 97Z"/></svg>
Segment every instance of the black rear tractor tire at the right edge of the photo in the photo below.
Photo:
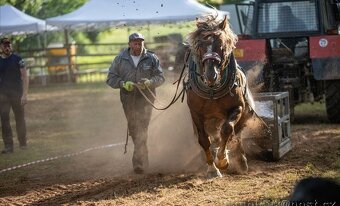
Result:
<svg viewBox="0 0 340 206"><path fill-rule="evenodd" d="M340 80L325 82L326 110L330 122L340 123Z"/></svg>

